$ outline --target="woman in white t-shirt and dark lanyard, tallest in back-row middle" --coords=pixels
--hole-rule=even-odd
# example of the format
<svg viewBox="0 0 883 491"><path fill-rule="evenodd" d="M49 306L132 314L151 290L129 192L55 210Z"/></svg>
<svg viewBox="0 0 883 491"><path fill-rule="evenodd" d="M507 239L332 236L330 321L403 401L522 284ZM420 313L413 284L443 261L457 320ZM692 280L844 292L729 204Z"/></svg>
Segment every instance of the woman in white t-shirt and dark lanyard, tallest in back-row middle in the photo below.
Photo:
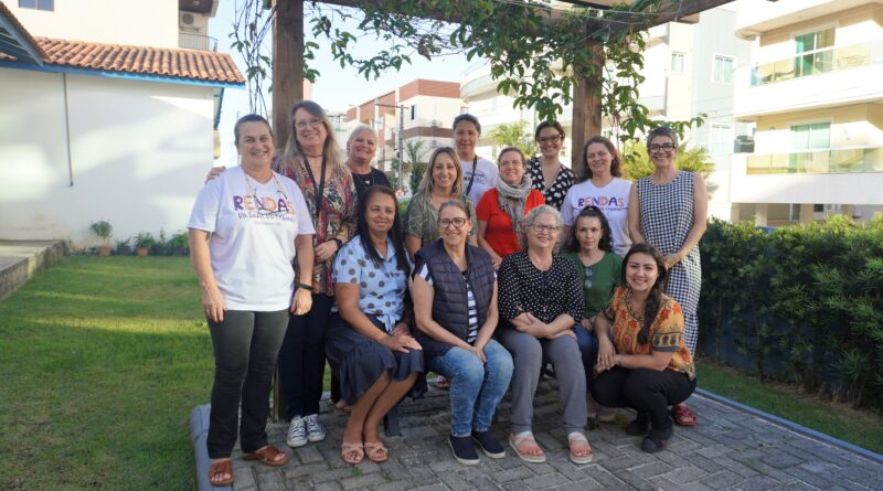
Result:
<svg viewBox="0 0 883 491"><path fill-rule="evenodd" d="M476 145L480 137L481 125L478 118L467 113L454 118L454 143L462 166L464 194L472 206L478 206L485 192L497 185L500 174L493 162L476 154Z"/></svg>

